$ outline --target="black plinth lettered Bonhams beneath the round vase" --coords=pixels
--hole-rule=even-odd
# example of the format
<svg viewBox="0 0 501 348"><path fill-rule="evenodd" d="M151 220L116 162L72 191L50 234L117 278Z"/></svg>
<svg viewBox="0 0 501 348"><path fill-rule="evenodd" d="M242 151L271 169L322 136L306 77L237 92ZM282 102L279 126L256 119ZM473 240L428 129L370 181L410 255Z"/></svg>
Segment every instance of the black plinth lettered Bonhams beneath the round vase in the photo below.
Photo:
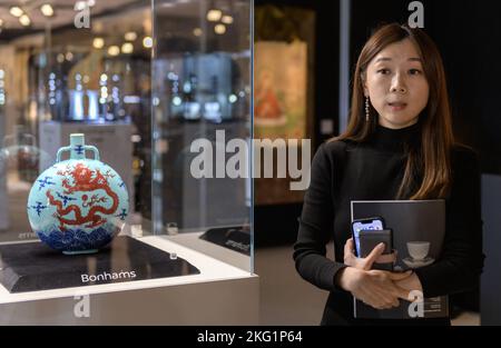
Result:
<svg viewBox="0 0 501 348"><path fill-rule="evenodd" d="M91 255L67 256L41 242L0 246L0 282L10 292L197 275L188 261L137 239L117 237Z"/></svg>

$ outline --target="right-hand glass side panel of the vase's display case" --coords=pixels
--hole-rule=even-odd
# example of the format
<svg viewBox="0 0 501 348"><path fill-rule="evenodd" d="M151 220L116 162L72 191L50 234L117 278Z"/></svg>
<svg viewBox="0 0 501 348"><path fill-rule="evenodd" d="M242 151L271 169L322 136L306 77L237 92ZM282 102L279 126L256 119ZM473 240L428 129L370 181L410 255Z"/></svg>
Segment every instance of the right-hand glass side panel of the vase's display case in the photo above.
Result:
<svg viewBox="0 0 501 348"><path fill-rule="evenodd" d="M250 2L154 3L154 231L249 256Z"/></svg>

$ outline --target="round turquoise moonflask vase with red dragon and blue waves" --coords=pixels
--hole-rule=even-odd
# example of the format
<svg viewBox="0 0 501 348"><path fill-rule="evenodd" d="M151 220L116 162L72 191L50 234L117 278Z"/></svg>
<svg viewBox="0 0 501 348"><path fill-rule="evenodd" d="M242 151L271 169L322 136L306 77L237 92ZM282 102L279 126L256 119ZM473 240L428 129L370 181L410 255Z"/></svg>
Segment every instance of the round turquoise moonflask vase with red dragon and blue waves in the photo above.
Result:
<svg viewBox="0 0 501 348"><path fill-rule="evenodd" d="M86 150L94 159L86 158ZM69 159L61 156L70 152ZM120 176L99 160L84 135L71 135L56 163L31 187L28 218L42 242L67 255L90 253L106 247L126 223L127 187Z"/></svg>

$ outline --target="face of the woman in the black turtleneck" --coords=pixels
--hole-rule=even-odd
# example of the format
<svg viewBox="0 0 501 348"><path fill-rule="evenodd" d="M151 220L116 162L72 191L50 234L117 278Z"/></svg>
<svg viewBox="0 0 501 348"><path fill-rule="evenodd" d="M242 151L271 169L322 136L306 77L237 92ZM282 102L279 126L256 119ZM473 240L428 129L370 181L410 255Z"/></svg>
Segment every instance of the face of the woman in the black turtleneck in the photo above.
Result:
<svg viewBox="0 0 501 348"><path fill-rule="evenodd" d="M386 128L404 128L418 122L428 105L430 87L420 54L411 40L389 44L369 63L364 95Z"/></svg>

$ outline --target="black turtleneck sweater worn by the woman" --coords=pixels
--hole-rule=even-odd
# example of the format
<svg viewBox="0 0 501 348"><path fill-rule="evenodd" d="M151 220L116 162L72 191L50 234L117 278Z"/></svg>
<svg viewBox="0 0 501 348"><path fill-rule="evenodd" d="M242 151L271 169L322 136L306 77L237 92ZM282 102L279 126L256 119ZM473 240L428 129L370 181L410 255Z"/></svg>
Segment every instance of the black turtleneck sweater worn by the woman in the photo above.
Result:
<svg viewBox="0 0 501 348"><path fill-rule="evenodd" d="M351 237L350 202L395 199L405 170L406 151L419 146L420 139L419 123L397 130L377 126L370 141L325 142L314 156L294 260L305 280L331 291L322 324L372 324L353 318L351 294L334 284L336 272L346 267L343 249ZM445 199L443 251L435 264L416 270L424 297L475 287L483 267L478 159L469 148L455 146L451 162L452 188ZM331 239L334 239L335 261L325 257L325 246ZM381 320L377 324L382 324ZM402 321L450 322L449 319Z"/></svg>

